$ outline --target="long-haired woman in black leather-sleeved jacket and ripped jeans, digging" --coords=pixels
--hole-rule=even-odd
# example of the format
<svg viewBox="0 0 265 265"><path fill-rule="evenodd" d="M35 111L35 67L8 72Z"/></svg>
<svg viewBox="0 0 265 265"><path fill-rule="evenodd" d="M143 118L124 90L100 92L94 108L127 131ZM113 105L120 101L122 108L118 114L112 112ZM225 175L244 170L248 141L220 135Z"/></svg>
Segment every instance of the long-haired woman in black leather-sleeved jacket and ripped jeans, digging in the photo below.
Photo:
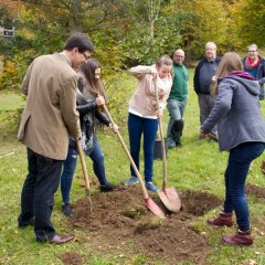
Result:
<svg viewBox="0 0 265 265"><path fill-rule="evenodd" d="M82 148L93 161L93 170L100 183L100 191L113 191L117 187L106 179L104 155L95 135L95 119L112 128L118 129L117 125L112 126L109 119L100 110L105 104L105 89L100 80L102 66L95 60L88 60L80 70L78 88L76 94L77 110L81 117ZM71 216L74 211L70 204L70 192L77 161L77 147L74 137L70 138L67 158L64 161L61 176L61 191L63 198L62 211Z"/></svg>

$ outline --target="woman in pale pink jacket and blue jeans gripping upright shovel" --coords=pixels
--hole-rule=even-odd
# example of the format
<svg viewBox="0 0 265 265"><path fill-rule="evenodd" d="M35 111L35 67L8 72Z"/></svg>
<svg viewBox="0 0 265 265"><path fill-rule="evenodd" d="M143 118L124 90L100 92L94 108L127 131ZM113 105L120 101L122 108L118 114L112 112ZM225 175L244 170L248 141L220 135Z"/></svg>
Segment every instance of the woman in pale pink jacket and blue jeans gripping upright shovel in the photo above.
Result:
<svg viewBox="0 0 265 265"><path fill-rule="evenodd" d="M139 169L140 139L144 135L146 188L157 192L158 188L152 182L153 145L158 129L158 117L162 115L172 86L172 60L168 55L163 55L155 65L138 65L130 68L129 72L138 80L136 92L129 102L130 155ZM157 105L156 89L159 95L159 106ZM130 174L131 177L125 182L125 186L138 182L131 166Z"/></svg>

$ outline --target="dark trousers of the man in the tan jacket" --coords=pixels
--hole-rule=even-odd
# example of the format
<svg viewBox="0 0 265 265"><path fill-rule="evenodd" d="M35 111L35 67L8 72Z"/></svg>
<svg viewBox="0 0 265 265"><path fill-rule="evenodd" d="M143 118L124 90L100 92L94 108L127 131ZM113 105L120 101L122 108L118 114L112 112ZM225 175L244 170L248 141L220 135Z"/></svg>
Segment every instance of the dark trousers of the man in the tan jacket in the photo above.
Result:
<svg viewBox="0 0 265 265"><path fill-rule="evenodd" d="M63 161L43 157L30 148L26 151L29 174L21 193L21 214L18 221L19 225L28 225L34 215L36 241L43 242L55 235L50 219Z"/></svg>

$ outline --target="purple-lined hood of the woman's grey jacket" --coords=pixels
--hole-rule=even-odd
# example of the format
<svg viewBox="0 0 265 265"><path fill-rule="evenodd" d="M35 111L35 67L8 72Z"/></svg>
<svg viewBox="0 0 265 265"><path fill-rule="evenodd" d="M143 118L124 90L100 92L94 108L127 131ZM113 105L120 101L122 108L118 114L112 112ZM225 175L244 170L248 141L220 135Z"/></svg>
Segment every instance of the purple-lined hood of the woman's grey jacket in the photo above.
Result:
<svg viewBox="0 0 265 265"><path fill-rule="evenodd" d="M223 80L235 80L239 83L241 83L241 85L243 85L251 94L259 95L258 83L255 81L255 78L251 74L244 71L233 72L224 76L223 78L221 78L220 82Z"/></svg>

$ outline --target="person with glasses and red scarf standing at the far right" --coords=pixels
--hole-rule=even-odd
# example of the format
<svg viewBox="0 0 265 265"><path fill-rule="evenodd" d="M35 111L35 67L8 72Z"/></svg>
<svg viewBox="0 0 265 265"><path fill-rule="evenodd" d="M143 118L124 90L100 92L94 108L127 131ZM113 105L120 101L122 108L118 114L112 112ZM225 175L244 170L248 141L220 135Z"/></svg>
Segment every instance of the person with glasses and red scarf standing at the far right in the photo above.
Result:
<svg viewBox="0 0 265 265"><path fill-rule="evenodd" d="M259 85L259 99L264 99L265 60L258 55L257 45L247 47L248 55L242 59L244 71L250 73Z"/></svg>

